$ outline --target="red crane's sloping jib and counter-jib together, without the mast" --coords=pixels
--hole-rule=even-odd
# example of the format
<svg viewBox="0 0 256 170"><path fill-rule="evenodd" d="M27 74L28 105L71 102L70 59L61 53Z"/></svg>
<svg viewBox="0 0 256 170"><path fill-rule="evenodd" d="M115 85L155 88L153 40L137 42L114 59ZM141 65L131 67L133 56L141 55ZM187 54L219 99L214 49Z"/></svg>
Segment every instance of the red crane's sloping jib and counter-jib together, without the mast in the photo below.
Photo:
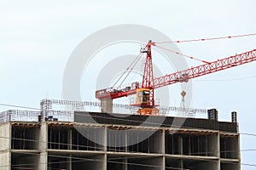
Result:
<svg viewBox="0 0 256 170"><path fill-rule="evenodd" d="M225 69L229 69L238 65L243 65L256 60L256 49L252 51L248 51L242 54L236 54L235 56L230 56L225 59L218 59L216 61L212 61L208 64L199 65L196 67L192 67L188 70L177 71L170 75L166 75L164 77L154 78L154 83L150 84L148 88L160 88L170 84L174 84L177 82L188 82L189 79L195 77L201 77L216 71L222 71ZM146 70L146 69L145 69ZM145 77L143 77L143 82ZM146 80L144 82L144 88ZM131 87L126 87L123 89L114 89L114 88L106 88L102 90L96 91L96 99L117 99L125 96L129 96L137 93L137 88L143 88L139 85L139 82L131 83Z"/></svg>

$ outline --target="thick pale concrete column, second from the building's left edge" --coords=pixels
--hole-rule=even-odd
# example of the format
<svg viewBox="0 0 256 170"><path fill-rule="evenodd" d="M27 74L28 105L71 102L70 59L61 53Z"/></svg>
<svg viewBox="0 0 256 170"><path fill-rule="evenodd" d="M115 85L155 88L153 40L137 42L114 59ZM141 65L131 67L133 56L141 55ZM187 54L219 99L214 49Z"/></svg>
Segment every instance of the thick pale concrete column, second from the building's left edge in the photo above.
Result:
<svg viewBox="0 0 256 170"><path fill-rule="evenodd" d="M41 127L39 131L39 142L38 149L40 150L38 169L47 170L48 163L48 125L47 122L41 122Z"/></svg>

